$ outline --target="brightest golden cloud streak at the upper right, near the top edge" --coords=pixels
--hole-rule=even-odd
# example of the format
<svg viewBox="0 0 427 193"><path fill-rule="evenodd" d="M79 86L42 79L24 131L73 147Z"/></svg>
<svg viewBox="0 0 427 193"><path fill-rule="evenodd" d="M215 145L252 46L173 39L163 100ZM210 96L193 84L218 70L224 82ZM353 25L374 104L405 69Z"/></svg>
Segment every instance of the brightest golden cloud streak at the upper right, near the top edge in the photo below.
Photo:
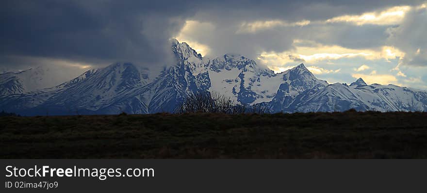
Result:
<svg viewBox="0 0 427 193"><path fill-rule="evenodd" d="M396 25L403 21L411 6L396 6L383 11L363 13L361 15L337 16L326 20L327 23L347 22L356 25Z"/></svg>

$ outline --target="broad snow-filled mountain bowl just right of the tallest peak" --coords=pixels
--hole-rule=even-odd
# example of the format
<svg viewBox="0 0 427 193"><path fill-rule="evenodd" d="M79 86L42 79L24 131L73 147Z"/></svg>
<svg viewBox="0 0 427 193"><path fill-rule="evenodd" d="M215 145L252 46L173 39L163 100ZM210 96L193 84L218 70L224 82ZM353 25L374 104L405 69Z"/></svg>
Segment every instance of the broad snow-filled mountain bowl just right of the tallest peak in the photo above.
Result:
<svg viewBox="0 0 427 193"><path fill-rule="evenodd" d="M279 88L274 72L237 54L208 61L210 92L220 93L242 104L270 101Z"/></svg>

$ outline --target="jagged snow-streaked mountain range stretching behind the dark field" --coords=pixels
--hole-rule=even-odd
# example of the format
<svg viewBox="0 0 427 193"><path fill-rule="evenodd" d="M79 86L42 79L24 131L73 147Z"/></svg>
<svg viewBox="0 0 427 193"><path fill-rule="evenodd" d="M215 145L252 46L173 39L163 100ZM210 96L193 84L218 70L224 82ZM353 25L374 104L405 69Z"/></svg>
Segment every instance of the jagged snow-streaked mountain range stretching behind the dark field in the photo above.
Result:
<svg viewBox="0 0 427 193"><path fill-rule="evenodd" d="M328 84L300 64L282 73L239 54L203 58L172 42L176 64L156 76L148 68L115 63L49 85L43 69L0 74L0 110L21 115L143 114L173 112L191 94L209 91L270 113L427 111L427 92L396 85Z"/></svg>

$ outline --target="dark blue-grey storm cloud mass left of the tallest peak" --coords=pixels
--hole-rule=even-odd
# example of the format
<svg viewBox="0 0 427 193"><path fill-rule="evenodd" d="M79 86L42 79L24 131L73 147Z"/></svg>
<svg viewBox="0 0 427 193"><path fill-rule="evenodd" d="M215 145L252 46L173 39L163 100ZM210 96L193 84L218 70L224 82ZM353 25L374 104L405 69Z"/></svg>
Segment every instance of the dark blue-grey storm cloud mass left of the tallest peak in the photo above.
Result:
<svg viewBox="0 0 427 193"><path fill-rule="evenodd" d="M191 16L187 6L174 1L5 1L0 59L14 55L162 65L172 58L168 39Z"/></svg>

